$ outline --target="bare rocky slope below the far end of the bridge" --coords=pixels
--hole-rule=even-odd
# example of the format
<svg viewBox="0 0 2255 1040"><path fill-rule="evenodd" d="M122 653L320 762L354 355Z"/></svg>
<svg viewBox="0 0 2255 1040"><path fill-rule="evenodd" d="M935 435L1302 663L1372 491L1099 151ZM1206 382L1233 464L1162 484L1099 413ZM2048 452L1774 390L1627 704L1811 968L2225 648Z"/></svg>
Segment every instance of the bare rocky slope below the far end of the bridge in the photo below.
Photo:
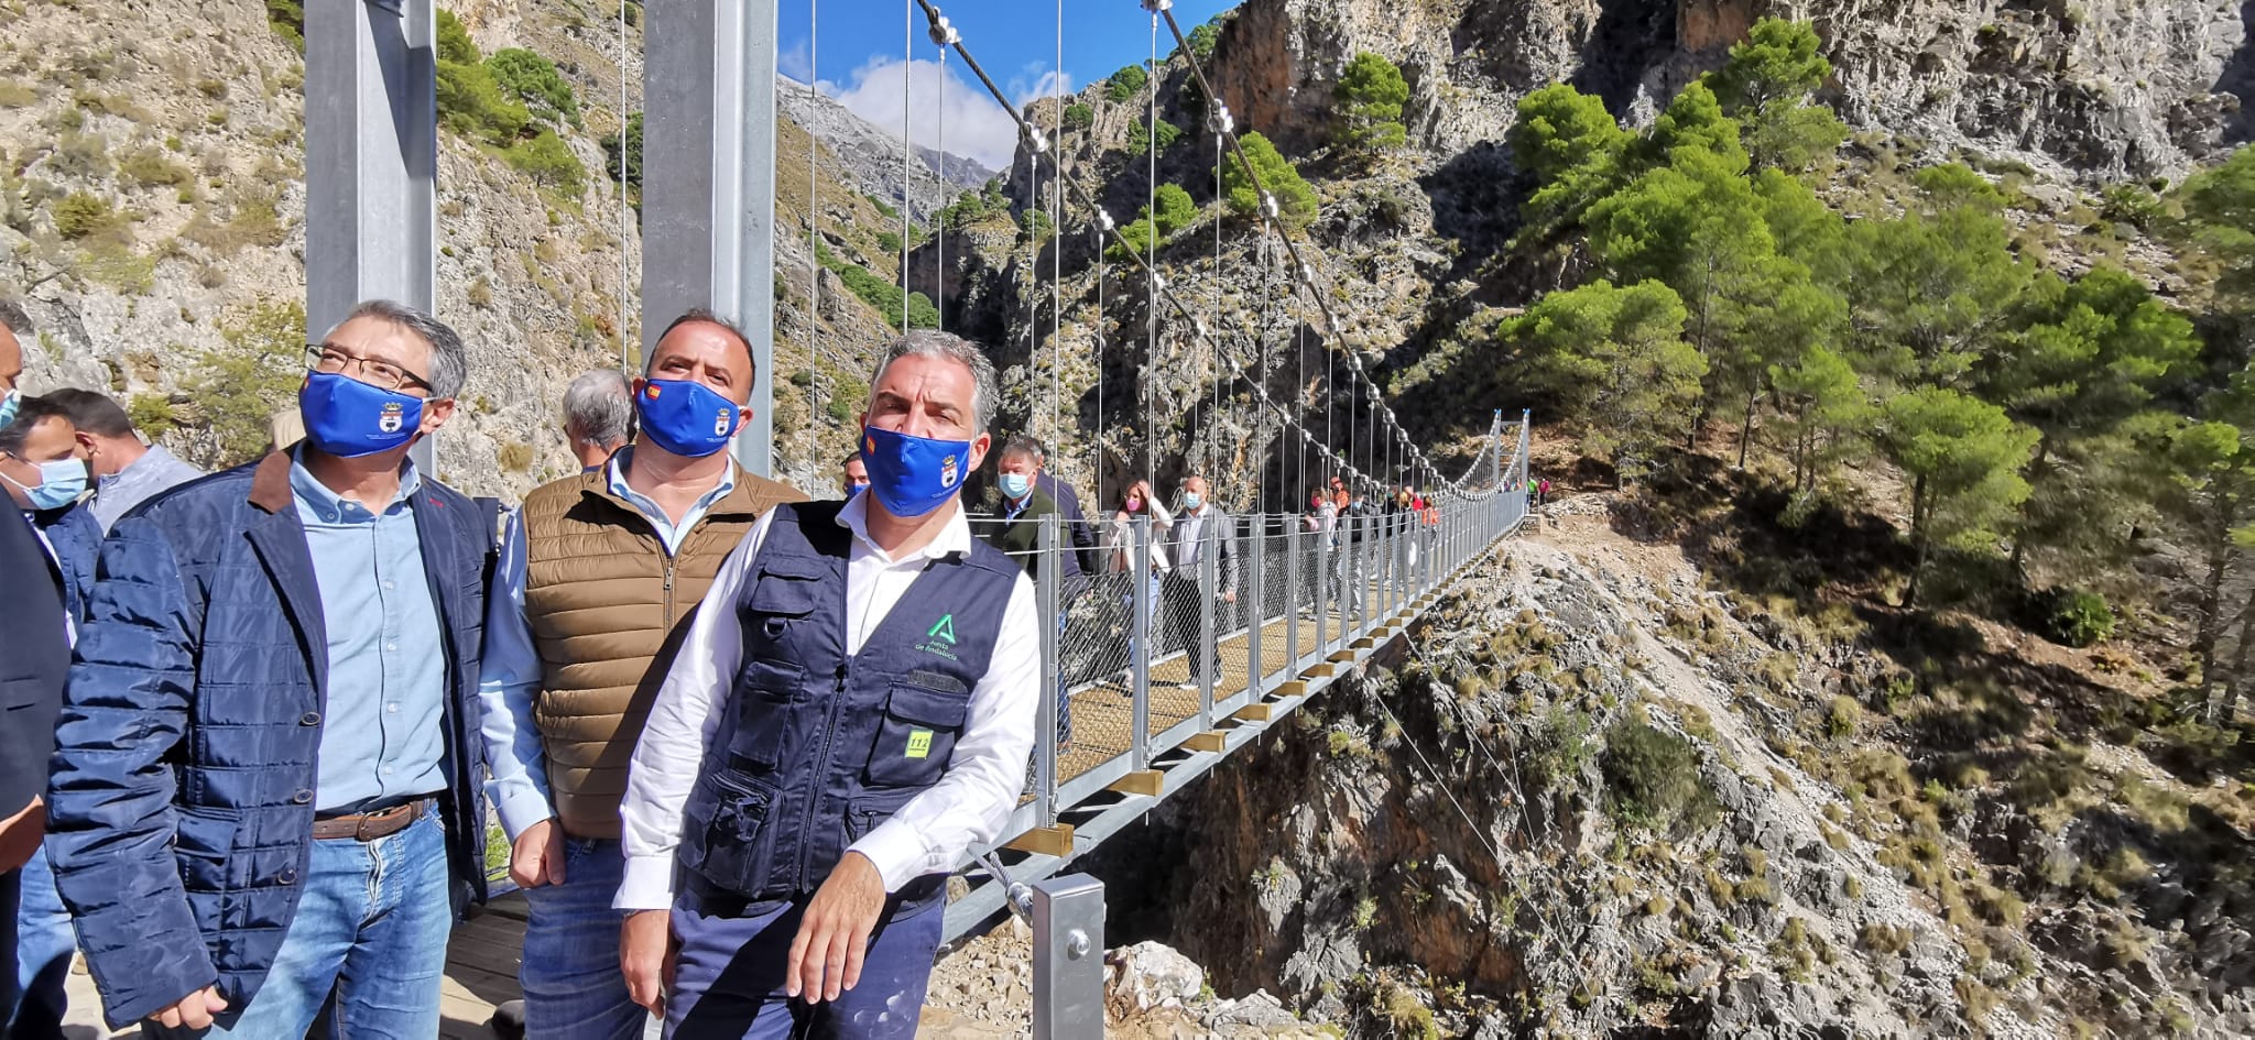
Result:
<svg viewBox="0 0 2255 1040"><path fill-rule="evenodd" d="M2048 817L1987 774L1921 794L1881 720L1813 738L1892 666L1703 589L1603 512L1560 508L1396 656L1082 864L1128 918L1109 938L1351 1035L2255 1029L2232 882L2172 864L2120 909L2079 896L2104 814ZM1669 799L1680 817L1646 812Z"/></svg>

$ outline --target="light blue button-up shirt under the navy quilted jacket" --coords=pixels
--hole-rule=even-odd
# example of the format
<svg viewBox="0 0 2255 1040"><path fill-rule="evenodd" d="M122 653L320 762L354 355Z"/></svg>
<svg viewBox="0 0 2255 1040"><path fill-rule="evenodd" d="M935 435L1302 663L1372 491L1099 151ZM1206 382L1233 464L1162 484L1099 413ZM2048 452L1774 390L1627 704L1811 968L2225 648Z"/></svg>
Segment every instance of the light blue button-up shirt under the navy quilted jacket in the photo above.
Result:
<svg viewBox="0 0 2255 1040"><path fill-rule="evenodd" d="M422 476L408 462L399 494L383 512L370 512L325 487L298 458L289 485L329 632L313 808L354 812L442 792L446 636L408 508Z"/></svg>

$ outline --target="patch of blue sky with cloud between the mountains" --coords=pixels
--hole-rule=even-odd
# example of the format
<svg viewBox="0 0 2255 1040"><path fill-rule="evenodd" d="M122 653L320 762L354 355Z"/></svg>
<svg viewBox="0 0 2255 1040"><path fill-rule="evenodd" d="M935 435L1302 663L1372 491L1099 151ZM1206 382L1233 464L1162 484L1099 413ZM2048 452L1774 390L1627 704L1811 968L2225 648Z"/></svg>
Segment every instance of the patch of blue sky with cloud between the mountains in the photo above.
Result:
<svg viewBox="0 0 2255 1040"><path fill-rule="evenodd" d="M1015 104L1046 97L1058 81L1067 92L1109 77L1121 65L1150 56L1150 14L1137 0L1064 0L1064 68L1058 74L1058 0L934 0L963 34L979 65ZM819 5L812 14L810 7ZM1175 0L1184 32L1236 7L1238 0ZM782 74L837 97L864 120L893 129L902 124L902 81L913 88L911 138L943 147L988 167L1006 167L1015 144L1010 117L983 86L925 36L925 16L913 11L913 61L902 61L902 14L913 0L780 0ZM810 20L816 29L810 47ZM1159 56L1173 52L1159 25ZM945 113L943 113L945 106ZM945 115L945 120L943 120Z"/></svg>

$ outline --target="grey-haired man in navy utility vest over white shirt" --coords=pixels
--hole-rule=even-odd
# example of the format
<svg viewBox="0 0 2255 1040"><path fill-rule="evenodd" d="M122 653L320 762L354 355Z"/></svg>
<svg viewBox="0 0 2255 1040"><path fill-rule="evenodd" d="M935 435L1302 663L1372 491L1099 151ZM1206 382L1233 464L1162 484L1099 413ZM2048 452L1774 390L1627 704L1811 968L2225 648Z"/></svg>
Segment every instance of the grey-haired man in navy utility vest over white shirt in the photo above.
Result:
<svg viewBox="0 0 2255 1040"><path fill-rule="evenodd" d="M909 332L868 492L762 514L697 611L620 810L620 961L672 1038L916 1035L947 873L1035 735L1033 582L958 503L994 399L979 347Z"/></svg>

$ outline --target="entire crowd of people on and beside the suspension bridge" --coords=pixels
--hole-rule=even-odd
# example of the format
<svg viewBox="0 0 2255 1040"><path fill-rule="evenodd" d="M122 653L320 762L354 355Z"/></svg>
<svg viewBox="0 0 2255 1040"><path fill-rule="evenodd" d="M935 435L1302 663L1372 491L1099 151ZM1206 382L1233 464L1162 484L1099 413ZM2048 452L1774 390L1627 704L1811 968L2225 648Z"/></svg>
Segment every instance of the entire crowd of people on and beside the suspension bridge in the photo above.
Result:
<svg viewBox="0 0 2255 1040"><path fill-rule="evenodd" d="M302 440L216 474L104 393L25 395L32 334L0 302L18 1040L63 1035L74 954L144 1035L433 1038L489 853L528 905L525 1035L913 1035L947 873L1008 821L1044 693L1071 742L1069 684L1042 681L1042 625L1071 611L1042 616L1042 566L1060 605L1103 587L1130 611L1143 584L1179 647L1204 598L1238 598L1202 474L1091 519L1042 442L997 449L994 368L940 332L882 352L814 501L726 451L753 347L681 314L638 377L568 386L577 471L516 508L410 458L469 372L413 307L327 329ZM1430 523L1409 487L1382 510ZM1306 523L1346 546L1367 514L1335 481ZM1211 679L1186 659L1186 688Z"/></svg>

